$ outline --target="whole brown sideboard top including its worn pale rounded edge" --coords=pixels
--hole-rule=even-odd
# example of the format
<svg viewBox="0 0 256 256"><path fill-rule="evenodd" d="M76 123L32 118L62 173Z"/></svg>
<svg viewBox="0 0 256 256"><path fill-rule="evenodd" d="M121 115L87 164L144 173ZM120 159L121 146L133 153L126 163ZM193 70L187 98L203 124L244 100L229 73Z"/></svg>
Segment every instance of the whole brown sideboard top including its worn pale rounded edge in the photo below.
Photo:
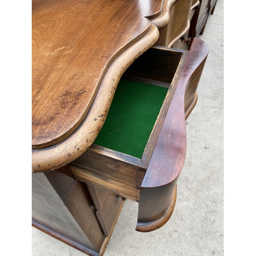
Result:
<svg viewBox="0 0 256 256"><path fill-rule="evenodd" d="M176 0L32 0L32 172L93 143L124 71L152 47Z"/></svg>

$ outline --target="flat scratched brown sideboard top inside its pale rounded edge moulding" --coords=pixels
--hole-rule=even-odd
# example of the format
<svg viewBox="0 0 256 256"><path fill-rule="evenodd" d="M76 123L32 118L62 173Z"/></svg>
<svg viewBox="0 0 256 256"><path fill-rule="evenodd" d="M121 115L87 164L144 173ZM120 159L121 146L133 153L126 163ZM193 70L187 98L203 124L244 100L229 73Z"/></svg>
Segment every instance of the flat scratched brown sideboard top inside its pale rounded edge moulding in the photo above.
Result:
<svg viewBox="0 0 256 256"><path fill-rule="evenodd" d="M32 1L32 148L77 129L106 69L145 35L145 16L161 7L150 0Z"/></svg>

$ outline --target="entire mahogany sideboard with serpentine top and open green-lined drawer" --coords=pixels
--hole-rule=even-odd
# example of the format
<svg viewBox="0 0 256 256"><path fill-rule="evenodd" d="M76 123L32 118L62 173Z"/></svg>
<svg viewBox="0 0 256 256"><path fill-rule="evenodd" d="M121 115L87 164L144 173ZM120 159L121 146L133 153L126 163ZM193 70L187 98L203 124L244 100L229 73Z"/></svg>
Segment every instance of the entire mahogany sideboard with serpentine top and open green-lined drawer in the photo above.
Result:
<svg viewBox="0 0 256 256"><path fill-rule="evenodd" d="M126 199L137 231L168 221L209 51L178 49L196 4L32 1L35 228L103 255Z"/></svg>

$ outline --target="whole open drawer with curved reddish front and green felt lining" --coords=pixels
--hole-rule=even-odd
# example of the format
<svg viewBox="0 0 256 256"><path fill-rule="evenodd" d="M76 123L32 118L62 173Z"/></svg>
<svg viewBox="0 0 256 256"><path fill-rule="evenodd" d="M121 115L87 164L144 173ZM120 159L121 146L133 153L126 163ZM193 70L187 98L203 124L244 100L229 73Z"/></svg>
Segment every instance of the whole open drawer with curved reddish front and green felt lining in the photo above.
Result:
<svg viewBox="0 0 256 256"><path fill-rule="evenodd" d="M158 229L174 210L185 119L208 51L195 38L189 51L152 47L142 54L122 76L95 143L69 164L76 179L139 202L137 231Z"/></svg>

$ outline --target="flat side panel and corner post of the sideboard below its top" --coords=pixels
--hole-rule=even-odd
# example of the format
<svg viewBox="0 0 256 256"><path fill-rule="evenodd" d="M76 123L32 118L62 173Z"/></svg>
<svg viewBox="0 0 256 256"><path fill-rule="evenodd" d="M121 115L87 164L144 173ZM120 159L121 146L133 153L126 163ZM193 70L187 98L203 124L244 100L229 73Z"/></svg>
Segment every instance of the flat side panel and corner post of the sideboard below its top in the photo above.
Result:
<svg viewBox="0 0 256 256"><path fill-rule="evenodd" d="M96 252L105 238L85 184L68 166L32 174L32 221Z"/></svg>

